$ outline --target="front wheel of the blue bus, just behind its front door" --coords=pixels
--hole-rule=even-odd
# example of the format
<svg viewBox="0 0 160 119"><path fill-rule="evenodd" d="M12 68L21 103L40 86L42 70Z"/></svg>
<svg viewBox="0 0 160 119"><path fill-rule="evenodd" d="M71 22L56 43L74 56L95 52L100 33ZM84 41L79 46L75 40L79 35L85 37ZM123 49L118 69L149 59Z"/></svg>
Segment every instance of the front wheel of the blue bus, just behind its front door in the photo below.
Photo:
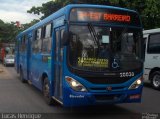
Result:
<svg viewBox="0 0 160 119"><path fill-rule="evenodd" d="M50 96L49 82L47 77L43 81L43 96L48 105L53 104L53 99Z"/></svg>

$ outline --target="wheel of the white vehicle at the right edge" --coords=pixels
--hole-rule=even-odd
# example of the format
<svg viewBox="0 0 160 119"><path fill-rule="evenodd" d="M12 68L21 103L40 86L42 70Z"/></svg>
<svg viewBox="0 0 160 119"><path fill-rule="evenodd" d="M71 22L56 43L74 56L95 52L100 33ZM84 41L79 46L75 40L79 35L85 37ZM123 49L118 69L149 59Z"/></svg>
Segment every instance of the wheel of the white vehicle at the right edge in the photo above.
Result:
<svg viewBox="0 0 160 119"><path fill-rule="evenodd" d="M160 72L156 71L151 74L151 83L155 89L160 89Z"/></svg>

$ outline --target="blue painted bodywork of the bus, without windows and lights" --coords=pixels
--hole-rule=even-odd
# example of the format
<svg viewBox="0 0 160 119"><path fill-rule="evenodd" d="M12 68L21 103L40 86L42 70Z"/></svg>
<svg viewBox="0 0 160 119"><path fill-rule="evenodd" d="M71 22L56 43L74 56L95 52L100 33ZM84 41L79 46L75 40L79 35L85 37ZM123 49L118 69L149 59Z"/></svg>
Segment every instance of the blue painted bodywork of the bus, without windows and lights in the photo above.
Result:
<svg viewBox="0 0 160 119"><path fill-rule="evenodd" d="M129 96L134 94L142 93L143 84L135 90L128 90L129 86L137 80L139 77L143 75L143 71L136 76L132 77L130 80L121 83L121 84L92 84L85 80L84 78L78 77L77 75L71 73L68 69L67 65L67 46L63 47L63 61L62 62L55 62L55 28L60 29L68 29L70 22L69 22L69 15L72 8L100 8L100 9L115 9L115 10L123 10L128 12L136 13L133 10L128 10L124 8L112 7L112 6L104 6L104 5L67 5L66 7L60 9L59 11L55 12L54 14L50 15L49 17L45 18L44 20L38 22L37 24L33 25L32 27L28 28L27 30L21 32L17 36L18 44L22 41L23 35L27 35L27 44L26 44L26 51L20 52L20 48L16 48L16 67L17 70L21 69L24 71L24 78L25 80L31 80L33 85L36 86L38 89L42 90L42 76L48 76L49 86L50 86L50 95L55 96L54 90L54 81L55 81L55 65L61 65L63 73L62 73L62 97L59 97L59 100L63 103L64 106L82 106L82 105L97 105L97 104L116 104L116 103L131 103L131 102L140 102L141 97L139 99L130 99ZM43 54L43 53L33 53L32 51L32 41L34 39L33 32L47 23L54 23L53 26L53 34L52 34L52 51L51 53ZM76 22L73 22L74 24ZM76 24L84 25L87 22L78 22ZM103 22L93 22L94 25L99 26L116 26L116 27L126 27L120 24L105 24ZM127 26L130 28L137 28L142 29L142 26ZM20 47L20 45L18 45ZM60 51L59 51L60 52ZM47 56L47 61L42 61L42 58ZM117 67L117 66L116 66ZM94 75L94 73L93 73ZM76 92L72 90L68 83L65 81L64 77L70 76L75 80L79 81L83 84L87 89L88 92ZM106 87L124 87L122 89L116 89L113 91L107 90L92 90L91 88L101 88L105 89ZM57 92L56 92L57 93ZM117 95L114 100L97 100L97 97L101 96L112 96Z"/></svg>

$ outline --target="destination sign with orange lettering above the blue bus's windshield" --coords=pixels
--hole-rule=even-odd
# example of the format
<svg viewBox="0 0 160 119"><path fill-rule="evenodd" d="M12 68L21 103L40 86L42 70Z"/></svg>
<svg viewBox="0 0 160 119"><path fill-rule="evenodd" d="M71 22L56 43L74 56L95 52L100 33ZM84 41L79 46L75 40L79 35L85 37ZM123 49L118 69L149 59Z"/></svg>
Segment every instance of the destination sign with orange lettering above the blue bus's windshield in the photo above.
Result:
<svg viewBox="0 0 160 119"><path fill-rule="evenodd" d="M136 12L121 9L73 8L70 13L70 21L105 22L141 26L139 16Z"/></svg>

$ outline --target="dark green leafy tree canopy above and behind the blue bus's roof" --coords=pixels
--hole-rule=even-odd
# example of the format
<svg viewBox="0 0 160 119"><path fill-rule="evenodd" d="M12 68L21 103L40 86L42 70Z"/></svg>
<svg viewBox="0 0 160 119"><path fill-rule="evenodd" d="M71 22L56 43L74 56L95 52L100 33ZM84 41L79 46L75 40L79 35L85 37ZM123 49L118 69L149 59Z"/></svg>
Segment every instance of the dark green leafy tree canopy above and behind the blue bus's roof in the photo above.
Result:
<svg viewBox="0 0 160 119"><path fill-rule="evenodd" d="M129 8L138 11L144 25L144 29L160 27L160 1L158 0L55 0L42 4L40 7L33 6L29 13L43 14L42 18L49 16L67 4L87 3L112 5Z"/></svg>

